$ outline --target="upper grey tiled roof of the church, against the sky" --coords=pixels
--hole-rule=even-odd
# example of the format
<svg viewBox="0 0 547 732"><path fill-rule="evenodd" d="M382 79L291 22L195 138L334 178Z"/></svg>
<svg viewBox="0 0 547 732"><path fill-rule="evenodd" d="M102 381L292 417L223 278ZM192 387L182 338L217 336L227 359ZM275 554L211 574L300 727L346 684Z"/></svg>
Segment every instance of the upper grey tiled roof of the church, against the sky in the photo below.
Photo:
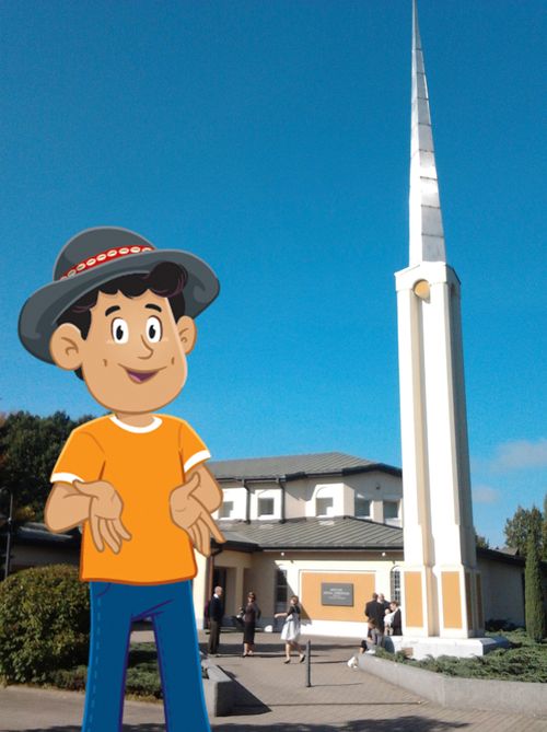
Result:
<svg viewBox="0 0 547 732"><path fill-rule="evenodd" d="M313 475L344 475L371 469L400 475L400 469L397 467L341 452L211 461L208 467L219 480L229 478L294 479Z"/></svg>

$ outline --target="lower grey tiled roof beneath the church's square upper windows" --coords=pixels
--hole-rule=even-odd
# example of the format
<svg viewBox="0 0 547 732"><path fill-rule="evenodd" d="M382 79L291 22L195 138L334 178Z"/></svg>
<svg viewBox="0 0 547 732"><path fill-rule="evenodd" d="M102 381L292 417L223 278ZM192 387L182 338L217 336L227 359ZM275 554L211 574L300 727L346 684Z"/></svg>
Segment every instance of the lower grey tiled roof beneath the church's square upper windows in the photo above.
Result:
<svg viewBox="0 0 547 732"><path fill-rule="evenodd" d="M255 549L398 549L403 530L353 516L279 521L219 521L230 544ZM222 545L221 545L222 546Z"/></svg>

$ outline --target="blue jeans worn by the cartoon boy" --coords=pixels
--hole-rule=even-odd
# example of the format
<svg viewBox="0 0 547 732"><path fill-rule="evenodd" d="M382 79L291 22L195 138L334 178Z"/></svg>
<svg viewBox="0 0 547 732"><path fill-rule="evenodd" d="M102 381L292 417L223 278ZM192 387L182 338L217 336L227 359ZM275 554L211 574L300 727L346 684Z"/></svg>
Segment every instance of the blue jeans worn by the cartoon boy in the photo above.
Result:
<svg viewBox="0 0 547 732"><path fill-rule="evenodd" d="M167 732L210 732L189 581L90 582L91 639L82 732L120 732L131 623L154 625Z"/></svg>

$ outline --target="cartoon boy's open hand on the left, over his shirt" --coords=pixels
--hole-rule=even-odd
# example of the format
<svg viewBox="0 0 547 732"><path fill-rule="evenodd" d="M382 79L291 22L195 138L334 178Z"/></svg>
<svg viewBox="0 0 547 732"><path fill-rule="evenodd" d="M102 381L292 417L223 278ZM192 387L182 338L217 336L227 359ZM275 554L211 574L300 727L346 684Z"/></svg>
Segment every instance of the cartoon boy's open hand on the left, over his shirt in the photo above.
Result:
<svg viewBox="0 0 547 732"><path fill-rule="evenodd" d="M114 554L118 554L121 542L131 538L131 534L121 523L124 502L119 493L106 480L93 483L74 480L73 485L82 493L91 497L89 520L91 536L96 548L103 551L106 544Z"/></svg>

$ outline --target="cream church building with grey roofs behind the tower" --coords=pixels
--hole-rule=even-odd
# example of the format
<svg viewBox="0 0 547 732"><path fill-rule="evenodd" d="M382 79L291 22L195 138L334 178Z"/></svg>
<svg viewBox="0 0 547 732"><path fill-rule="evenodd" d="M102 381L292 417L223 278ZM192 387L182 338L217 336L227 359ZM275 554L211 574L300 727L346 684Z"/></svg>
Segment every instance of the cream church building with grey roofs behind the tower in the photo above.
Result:
<svg viewBox="0 0 547 732"><path fill-rule="evenodd" d="M194 580L198 624L212 588L224 588L226 621L248 591L261 625L292 594L304 632L360 637L373 592L408 611L404 567L403 477L398 467L344 453L210 462L224 501L217 521L226 543L198 556ZM485 620L524 623L524 560L478 549ZM547 574L547 572L546 572Z"/></svg>

